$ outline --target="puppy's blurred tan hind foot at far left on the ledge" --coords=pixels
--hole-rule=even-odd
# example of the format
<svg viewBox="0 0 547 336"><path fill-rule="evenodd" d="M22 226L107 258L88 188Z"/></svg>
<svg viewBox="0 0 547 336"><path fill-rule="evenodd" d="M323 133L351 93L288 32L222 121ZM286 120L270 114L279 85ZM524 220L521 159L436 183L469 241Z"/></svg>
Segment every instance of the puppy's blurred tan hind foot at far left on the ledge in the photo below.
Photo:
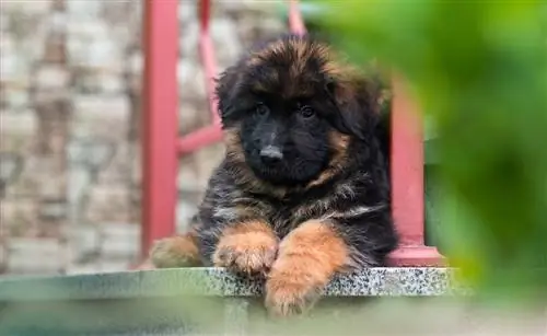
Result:
<svg viewBox="0 0 547 336"><path fill-rule="evenodd" d="M181 235L159 240L150 251L150 262L156 268L201 266L195 229Z"/></svg>

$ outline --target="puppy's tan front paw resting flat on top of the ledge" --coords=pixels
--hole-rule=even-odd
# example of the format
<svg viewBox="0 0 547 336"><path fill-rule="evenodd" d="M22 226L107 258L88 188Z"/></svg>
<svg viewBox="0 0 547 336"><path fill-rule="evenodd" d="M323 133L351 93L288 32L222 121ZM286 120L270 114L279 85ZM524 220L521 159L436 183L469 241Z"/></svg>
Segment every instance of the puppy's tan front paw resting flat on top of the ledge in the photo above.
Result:
<svg viewBox="0 0 547 336"><path fill-rule="evenodd" d="M235 273L265 275L276 259L277 247L277 239L265 232L229 234L220 239L213 263Z"/></svg>

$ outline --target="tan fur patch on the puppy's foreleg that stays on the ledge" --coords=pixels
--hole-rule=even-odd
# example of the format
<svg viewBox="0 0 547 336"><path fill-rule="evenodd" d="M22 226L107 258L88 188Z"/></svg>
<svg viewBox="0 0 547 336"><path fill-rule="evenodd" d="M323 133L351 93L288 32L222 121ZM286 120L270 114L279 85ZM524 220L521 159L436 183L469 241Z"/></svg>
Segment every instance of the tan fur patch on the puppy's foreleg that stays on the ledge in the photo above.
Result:
<svg viewBox="0 0 547 336"><path fill-rule="evenodd" d="M221 233L213 264L245 274L266 274L276 258L278 239L264 221L231 225Z"/></svg>

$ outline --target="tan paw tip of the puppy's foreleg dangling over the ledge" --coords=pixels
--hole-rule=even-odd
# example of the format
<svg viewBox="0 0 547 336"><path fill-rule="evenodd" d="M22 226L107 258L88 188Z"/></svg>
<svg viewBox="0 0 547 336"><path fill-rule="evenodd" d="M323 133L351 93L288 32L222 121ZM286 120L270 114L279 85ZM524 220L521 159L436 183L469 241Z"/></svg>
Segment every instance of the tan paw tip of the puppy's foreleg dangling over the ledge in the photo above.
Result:
<svg viewBox="0 0 547 336"><path fill-rule="evenodd" d="M317 302L326 283L313 263L298 257L278 260L266 281L266 309L278 317L303 314Z"/></svg>

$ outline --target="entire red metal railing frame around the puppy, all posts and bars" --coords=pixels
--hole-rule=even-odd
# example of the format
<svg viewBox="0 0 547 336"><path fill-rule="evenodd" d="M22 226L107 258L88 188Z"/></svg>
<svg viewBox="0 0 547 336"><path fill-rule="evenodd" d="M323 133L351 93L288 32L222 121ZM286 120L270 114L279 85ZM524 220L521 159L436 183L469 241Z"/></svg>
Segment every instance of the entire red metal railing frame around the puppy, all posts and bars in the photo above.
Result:
<svg viewBox="0 0 547 336"><path fill-rule="evenodd" d="M289 1L291 32L306 28L296 0ZM217 65L209 35L210 0L201 0L199 47L207 81L211 125L176 138L177 0L146 0L146 77L143 129L143 234L142 253L152 241L175 231L176 157L222 139L214 96ZM421 121L399 80L394 81L392 181L393 211L401 247L391 262L398 266L442 265L437 248L424 246L423 142Z"/></svg>

